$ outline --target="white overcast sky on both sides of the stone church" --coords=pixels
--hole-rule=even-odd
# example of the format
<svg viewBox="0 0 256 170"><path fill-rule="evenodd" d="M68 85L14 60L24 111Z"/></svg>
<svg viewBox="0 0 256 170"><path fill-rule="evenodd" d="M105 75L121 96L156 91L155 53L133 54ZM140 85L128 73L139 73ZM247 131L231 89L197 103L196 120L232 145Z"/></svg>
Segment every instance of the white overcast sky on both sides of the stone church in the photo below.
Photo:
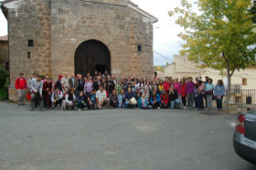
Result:
<svg viewBox="0 0 256 170"><path fill-rule="evenodd" d="M0 0L1 2L2 0ZM179 5L180 0L132 0L145 11L158 18L154 27L154 51L165 58L154 54L155 66L165 65L171 62L173 55L180 50L180 39L176 36L181 28L175 23L175 19L168 16L168 11ZM7 22L2 11L0 12L0 36L7 34Z"/></svg>

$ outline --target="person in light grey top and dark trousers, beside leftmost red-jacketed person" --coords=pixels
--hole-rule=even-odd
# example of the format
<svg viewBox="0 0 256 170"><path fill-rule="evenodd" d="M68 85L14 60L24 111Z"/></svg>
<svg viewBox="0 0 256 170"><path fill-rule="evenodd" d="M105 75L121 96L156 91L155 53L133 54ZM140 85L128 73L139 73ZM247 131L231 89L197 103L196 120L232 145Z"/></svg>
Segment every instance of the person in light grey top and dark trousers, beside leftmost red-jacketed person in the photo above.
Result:
<svg viewBox="0 0 256 170"><path fill-rule="evenodd" d="M42 103L42 90L43 90L43 81L41 76L37 76L37 80L31 81L31 111L34 111L35 107L39 105L42 111L44 111L43 103Z"/></svg>

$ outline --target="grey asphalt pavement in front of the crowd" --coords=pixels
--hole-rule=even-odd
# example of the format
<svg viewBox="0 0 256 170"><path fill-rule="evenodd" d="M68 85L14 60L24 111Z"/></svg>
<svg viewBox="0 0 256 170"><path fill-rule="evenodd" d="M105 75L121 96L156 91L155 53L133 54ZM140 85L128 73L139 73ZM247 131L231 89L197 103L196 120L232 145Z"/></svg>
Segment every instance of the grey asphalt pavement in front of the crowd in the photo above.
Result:
<svg viewBox="0 0 256 170"><path fill-rule="evenodd" d="M255 170L232 148L236 115L30 112L0 102L1 170Z"/></svg>

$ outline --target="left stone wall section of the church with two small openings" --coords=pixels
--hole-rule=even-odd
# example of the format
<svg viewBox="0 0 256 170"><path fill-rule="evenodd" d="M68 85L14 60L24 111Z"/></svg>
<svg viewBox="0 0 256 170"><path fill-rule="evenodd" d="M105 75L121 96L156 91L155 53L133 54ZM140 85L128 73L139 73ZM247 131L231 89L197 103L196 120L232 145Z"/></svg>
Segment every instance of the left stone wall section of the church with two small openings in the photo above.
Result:
<svg viewBox="0 0 256 170"><path fill-rule="evenodd" d="M50 73L50 0L27 0L8 9L8 26L11 85L20 72L26 78ZM34 47L28 47L28 39Z"/></svg>

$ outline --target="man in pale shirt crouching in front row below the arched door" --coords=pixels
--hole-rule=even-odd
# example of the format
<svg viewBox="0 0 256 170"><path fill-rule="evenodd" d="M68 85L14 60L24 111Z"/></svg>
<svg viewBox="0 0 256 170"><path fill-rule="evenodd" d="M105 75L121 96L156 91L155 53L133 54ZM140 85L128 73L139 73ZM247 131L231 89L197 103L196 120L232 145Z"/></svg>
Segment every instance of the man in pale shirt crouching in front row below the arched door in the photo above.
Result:
<svg viewBox="0 0 256 170"><path fill-rule="evenodd" d="M106 90L103 86L100 86L100 90L96 92L97 108L102 109L103 106L110 108L110 99L107 98Z"/></svg>

